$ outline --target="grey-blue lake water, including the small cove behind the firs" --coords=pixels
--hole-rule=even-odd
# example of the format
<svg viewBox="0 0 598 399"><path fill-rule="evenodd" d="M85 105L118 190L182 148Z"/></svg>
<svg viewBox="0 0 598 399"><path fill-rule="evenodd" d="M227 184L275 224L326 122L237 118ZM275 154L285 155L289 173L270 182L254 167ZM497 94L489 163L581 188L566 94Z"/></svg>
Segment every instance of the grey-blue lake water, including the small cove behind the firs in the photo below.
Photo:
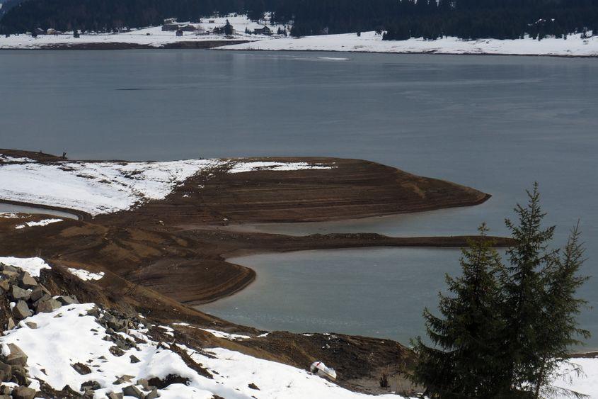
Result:
<svg viewBox="0 0 598 399"><path fill-rule="evenodd" d="M333 58L333 59L330 59ZM371 159L493 194L473 208L268 231L464 234L539 181L558 242L578 218L598 262L598 60L136 50L0 52L0 147L100 159ZM236 259L245 291L203 309L268 330L403 342L459 252L359 249ZM582 291L598 305L598 281ZM582 315L594 332L595 310Z"/></svg>

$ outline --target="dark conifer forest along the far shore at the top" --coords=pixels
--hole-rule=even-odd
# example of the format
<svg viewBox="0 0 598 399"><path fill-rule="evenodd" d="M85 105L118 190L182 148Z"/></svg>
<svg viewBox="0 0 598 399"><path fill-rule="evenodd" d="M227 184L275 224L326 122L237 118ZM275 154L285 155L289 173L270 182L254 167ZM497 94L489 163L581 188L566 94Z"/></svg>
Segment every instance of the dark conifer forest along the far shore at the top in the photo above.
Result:
<svg viewBox="0 0 598 399"><path fill-rule="evenodd" d="M102 31L214 13L248 13L257 20L266 11L277 23L294 21L296 36L377 30L387 40L512 39L598 32L598 0L28 0L5 13L0 31Z"/></svg>

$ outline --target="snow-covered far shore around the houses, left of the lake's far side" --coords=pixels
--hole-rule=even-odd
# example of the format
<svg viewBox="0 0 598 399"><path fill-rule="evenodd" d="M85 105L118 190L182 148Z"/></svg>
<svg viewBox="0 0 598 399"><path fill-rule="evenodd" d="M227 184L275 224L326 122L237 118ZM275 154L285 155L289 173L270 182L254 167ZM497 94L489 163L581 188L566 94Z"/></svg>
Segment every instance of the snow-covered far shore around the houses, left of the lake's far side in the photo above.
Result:
<svg viewBox="0 0 598 399"><path fill-rule="evenodd" d="M226 19L229 20L235 30L235 34L231 38L224 35L214 35L210 33L214 28L224 26ZM209 21L214 21L209 23ZM62 35L38 35L37 38L32 38L31 35L11 35L5 38L4 35L0 37L0 49L39 49L44 47L57 47L65 45L91 45L91 44L110 44L110 43L127 43L134 45L146 45L149 47L163 47L171 43L180 42L202 42L213 40L260 40L267 38L265 35L246 34L246 29L253 32L256 28L262 28L256 22L249 21L246 16L228 16L228 17L211 17L202 19L202 23L181 23L190 24L199 28L195 32L183 32L182 37L176 36L174 31L163 32L161 26L141 28L131 30L123 33L100 33L100 34L84 34L79 38L74 38L73 33L65 33ZM272 26L268 23L268 28L273 33L277 33L278 28L287 29L282 25Z"/></svg>

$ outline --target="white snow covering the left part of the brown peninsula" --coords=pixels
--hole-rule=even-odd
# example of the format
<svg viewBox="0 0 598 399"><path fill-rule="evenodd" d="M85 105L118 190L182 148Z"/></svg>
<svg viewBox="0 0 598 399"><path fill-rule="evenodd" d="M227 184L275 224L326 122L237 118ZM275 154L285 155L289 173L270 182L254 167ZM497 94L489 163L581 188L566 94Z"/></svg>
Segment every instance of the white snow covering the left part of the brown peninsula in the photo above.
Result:
<svg viewBox="0 0 598 399"><path fill-rule="evenodd" d="M190 176L217 167L228 168L230 173L328 169L305 162L225 159L171 162L64 161L42 164L32 159L19 158L16 161L5 159L5 162L9 163L0 164L0 201L69 208L90 215L127 210L145 201L166 198Z"/></svg>

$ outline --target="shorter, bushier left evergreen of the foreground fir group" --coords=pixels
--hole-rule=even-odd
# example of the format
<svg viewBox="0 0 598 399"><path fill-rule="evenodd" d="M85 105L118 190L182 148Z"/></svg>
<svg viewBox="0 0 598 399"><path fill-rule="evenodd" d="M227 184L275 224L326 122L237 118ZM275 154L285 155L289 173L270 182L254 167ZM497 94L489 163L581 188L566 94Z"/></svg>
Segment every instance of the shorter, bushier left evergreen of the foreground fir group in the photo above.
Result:
<svg viewBox="0 0 598 399"><path fill-rule="evenodd" d="M447 276L452 296L439 294L442 317L424 310L427 346L418 337L415 352L418 364L413 381L427 388L431 398L493 398L503 385L495 364L500 352L500 317L504 273L498 252L486 238L485 225L478 240L463 250L462 275Z"/></svg>

